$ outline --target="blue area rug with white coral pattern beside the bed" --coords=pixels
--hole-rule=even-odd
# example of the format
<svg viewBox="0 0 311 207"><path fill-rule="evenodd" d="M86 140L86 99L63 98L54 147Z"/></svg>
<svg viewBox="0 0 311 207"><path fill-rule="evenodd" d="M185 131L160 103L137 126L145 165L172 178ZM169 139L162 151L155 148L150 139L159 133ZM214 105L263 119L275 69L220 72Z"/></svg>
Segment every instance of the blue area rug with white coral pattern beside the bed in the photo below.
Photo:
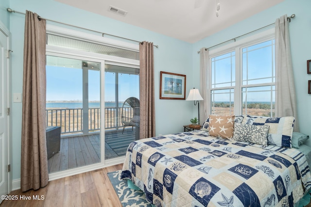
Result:
<svg viewBox="0 0 311 207"><path fill-rule="evenodd" d="M143 191L130 189L127 180L121 180L121 170L107 174L110 182L115 189L123 207L152 207L146 201Z"/></svg>

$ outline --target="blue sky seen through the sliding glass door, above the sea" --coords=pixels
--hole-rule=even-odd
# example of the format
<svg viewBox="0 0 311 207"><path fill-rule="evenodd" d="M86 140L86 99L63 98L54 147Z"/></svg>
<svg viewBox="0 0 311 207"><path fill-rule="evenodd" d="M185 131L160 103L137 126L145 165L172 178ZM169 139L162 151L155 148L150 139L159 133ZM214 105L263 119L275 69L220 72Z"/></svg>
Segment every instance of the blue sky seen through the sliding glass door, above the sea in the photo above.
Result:
<svg viewBox="0 0 311 207"><path fill-rule="evenodd" d="M82 69L46 66L47 101L82 100ZM115 101L115 73L105 72L105 101ZM100 100L100 72L89 70L89 101ZM119 101L139 98L138 75L119 74Z"/></svg>

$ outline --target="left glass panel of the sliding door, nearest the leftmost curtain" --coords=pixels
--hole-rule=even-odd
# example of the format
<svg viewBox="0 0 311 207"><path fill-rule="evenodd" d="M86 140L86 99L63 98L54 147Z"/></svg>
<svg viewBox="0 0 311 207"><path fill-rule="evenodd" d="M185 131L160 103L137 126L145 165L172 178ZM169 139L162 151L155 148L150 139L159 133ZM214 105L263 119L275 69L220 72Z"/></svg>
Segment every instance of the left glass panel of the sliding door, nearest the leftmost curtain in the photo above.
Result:
<svg viewBox="0 0 311 207"><path fill-rule="evenodd" d="M101 162L101 65L92 59L47 55L50 173Z"/></svg>

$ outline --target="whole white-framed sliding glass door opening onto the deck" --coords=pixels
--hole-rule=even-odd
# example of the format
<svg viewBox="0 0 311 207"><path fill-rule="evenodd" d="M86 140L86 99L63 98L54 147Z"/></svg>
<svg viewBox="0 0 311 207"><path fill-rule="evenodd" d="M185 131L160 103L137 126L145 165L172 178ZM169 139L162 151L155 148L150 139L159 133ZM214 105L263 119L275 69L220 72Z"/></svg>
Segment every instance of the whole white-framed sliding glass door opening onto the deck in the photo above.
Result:
<svg viewBox="0 0 311 207"><path fill-rule="evenodd" d="M124 104L139 99L138 46L61 31L48 32L46 46L46 122L60 137L48 160L52 178L121 163L139 133L139 103Z"/></svg>

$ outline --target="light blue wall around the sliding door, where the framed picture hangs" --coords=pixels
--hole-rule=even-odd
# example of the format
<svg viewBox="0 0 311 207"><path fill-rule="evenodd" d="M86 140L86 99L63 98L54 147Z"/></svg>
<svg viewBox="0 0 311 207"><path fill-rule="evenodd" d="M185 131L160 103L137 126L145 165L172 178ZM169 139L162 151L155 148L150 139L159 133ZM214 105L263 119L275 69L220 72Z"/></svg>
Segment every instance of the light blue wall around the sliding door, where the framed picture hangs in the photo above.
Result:
<svg viewBox="0 0 311 207"><path fill-rule="evenodd" d="M188 124L192 113L184 109L191 109L190 101L160 100L159 80L160 71L184 74L189 78L187 91L190 90L192 87L192 60L189 58L192 48L190 43L76 9L53 0L11 0L10 3L10 7L19 12L29 10L48 19L138 41L154 42L154 44L159 45L159 48L154 49L156 135L180 132L183 130L182 126ZM22 92L24 22L24 15L10 14L12 50L14 51L12 54L12 73L14 74L12 77L12 93ZM13 179L20 178L21 117L22 104L13 103Z"/></svg>

